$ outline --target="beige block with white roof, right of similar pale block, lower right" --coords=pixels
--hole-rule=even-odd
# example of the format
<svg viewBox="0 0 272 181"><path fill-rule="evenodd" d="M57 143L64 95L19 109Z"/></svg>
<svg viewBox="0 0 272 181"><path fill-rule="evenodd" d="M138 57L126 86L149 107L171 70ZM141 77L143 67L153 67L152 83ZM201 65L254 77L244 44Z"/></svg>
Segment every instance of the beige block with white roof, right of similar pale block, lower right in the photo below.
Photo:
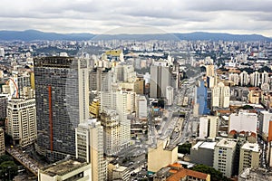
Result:
<svg viewBox="0 0 272 181"><path fill-rule="evenodd" d="M259 165L259 148L257 143L245 143L240 148L239 173L245 168L257 168Z"/></svg>

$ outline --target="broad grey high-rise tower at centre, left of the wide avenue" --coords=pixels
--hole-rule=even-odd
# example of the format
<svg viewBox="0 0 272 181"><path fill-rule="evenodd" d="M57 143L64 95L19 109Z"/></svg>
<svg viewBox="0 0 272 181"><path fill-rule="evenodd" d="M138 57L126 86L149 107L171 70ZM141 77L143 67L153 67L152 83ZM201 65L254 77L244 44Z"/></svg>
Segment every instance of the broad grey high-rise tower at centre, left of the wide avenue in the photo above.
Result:
<svg viewBox="0 0 272 181"><path fill-rule="evenodd" d="M151 65L151 98L165 98L166 87L170 86L170 67Z"/></svg>

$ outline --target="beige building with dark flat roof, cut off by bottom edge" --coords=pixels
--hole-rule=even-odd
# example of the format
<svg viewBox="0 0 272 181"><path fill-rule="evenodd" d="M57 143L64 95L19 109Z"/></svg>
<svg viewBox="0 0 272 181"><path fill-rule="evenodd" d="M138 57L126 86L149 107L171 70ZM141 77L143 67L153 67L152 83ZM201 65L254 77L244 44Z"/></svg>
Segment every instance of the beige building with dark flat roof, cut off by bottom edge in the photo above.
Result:
<svg viewBox="0 0 272 181"><path fill-rule="evenodd" d="M92 181L91 164L78 159L62 160L38 171L38 181Z"/></svg>

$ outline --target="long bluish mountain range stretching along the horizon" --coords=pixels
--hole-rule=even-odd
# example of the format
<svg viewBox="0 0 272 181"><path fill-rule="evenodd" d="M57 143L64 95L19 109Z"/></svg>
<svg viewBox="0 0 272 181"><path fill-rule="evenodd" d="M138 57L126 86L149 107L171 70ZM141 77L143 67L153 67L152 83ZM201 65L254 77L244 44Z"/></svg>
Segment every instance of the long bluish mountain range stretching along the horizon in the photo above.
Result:
<svg viewBox="0 0 272 181"><path fill-rule="evenodd" d="M211 41L272 41L272 38L260 34L230 33L160 33L160 34L102 34L92 33L44 33L36 30L0 31L0 41L35 41L35 40L211 40Z"/></svg>

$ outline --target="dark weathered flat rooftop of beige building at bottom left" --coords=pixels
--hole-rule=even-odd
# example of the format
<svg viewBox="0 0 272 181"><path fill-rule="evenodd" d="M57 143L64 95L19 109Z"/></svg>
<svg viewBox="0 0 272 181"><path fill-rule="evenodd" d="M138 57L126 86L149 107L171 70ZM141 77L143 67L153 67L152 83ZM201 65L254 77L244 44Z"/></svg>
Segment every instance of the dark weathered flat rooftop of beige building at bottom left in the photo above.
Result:
<svg viewBox="0 0 272 181"><path fill-rule="evenodd" d="M73 170L86 166L87 163L77 159L68 159L56 162L50 166L42 168L42 173L47 176L63 176Z"/></svg>

